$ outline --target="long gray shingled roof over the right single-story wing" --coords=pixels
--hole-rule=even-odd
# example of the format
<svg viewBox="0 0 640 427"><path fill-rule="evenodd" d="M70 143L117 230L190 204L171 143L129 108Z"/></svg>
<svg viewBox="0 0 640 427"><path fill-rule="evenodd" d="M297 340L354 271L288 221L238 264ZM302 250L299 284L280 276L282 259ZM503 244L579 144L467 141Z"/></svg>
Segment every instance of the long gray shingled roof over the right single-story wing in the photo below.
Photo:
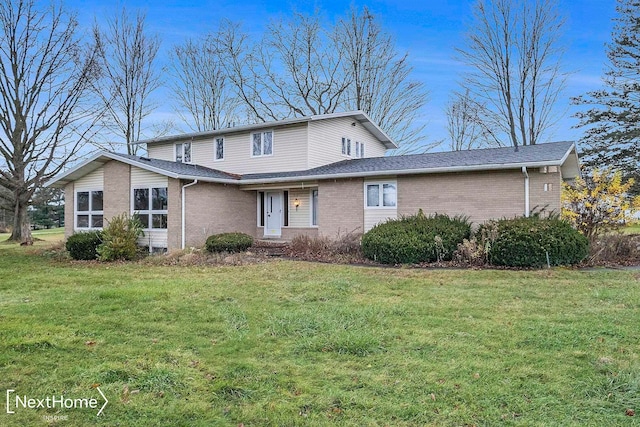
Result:
<svg viewBox="0 0 640 427"><path fill-rule="evenodd" d="M571 141L552 142L519 147L487 148L481 150L451 151L405 156L372 157L343 160L314 169L256 173L242 175L242 181L275 178L293 178L324 175L345 175L371 172L395 172L406 170L438 170L473 166L501 166L527 163L560 162L573 146Z"/></svg>

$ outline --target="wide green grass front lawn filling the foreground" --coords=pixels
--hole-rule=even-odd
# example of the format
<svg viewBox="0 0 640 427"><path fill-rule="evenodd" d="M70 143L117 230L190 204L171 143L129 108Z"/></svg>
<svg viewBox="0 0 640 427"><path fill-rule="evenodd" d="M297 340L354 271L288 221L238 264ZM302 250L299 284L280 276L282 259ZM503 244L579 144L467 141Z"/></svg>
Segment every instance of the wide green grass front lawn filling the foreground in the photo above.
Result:
<svg viewBox="0 0 640 427"><path fill-rule="evenodd" d="M637 425L640 275L63 263L0 247L0 392L65 426ZM0 410L0 425L55 412Z"/></svg>

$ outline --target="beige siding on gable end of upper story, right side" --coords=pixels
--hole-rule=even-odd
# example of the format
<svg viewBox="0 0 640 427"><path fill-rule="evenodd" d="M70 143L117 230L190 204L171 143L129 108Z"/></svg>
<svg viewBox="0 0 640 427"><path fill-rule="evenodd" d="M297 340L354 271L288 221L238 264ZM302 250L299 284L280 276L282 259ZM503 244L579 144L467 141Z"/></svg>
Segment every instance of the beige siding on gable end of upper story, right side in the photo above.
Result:
<svg viewBox="0 0 640 427"><path fill-rule="evenodd" d="M356 126L352 126L352 123ZM356 141L364 143L365 157L382 157L386 148L364 126L350 117L309 122L309 168L339 162L348 157L342 154L342 138L351 139L351 154L355 158Z"/></svg>

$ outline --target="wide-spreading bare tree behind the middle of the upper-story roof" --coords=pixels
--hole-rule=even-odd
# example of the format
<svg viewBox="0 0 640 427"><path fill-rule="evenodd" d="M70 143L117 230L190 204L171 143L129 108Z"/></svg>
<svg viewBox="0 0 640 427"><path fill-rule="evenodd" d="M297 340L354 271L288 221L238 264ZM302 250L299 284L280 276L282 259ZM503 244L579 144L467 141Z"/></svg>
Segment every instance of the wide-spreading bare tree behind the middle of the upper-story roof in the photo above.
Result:
<svg viewBox="0 0 640 427"><path fill-rule="evenodd" d="M236 91L256 121L327 114L345 105L342 53L318 16L296 13L290 21L272 22L258 43L227 22L216 39Z"/></svg>

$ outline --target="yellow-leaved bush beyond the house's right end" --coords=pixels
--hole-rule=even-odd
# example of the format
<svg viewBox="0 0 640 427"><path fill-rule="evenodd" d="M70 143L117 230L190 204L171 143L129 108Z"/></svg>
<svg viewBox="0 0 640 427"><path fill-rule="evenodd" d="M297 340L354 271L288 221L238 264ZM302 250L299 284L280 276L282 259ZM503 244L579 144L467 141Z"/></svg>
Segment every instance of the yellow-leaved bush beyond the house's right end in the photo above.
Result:
<svg viewBox="0 0 640 427"><path fill-rule="evenodd" d="M590 241L598 235L617 230L634 219L640 209L640 196L628 192L633 178L626 182L620 171L594 170L586 179L578 177L565 183L562 191L562 217Z"/></svg>

